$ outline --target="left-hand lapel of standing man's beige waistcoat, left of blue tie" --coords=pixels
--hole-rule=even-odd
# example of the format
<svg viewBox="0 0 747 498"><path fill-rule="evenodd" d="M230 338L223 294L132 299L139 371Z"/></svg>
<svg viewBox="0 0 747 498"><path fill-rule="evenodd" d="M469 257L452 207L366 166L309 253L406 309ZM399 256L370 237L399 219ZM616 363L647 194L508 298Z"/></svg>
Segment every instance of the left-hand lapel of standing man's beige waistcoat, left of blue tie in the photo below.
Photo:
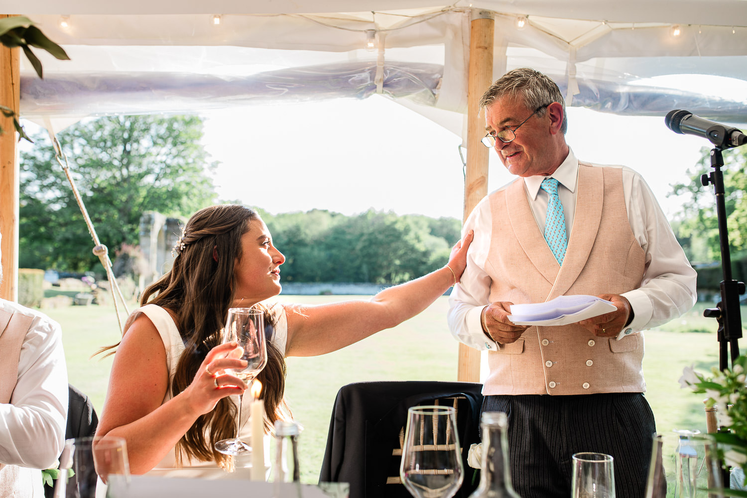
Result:
<svg viewBox="0 0 747 498"><path fill-rule="evenodd" d="M506 188L506 213L521 249L539 273L542 273L542 276L553 284L558 276L560 265L534 220L532 208L527 201L524 180L521 178Z"/></svg>

